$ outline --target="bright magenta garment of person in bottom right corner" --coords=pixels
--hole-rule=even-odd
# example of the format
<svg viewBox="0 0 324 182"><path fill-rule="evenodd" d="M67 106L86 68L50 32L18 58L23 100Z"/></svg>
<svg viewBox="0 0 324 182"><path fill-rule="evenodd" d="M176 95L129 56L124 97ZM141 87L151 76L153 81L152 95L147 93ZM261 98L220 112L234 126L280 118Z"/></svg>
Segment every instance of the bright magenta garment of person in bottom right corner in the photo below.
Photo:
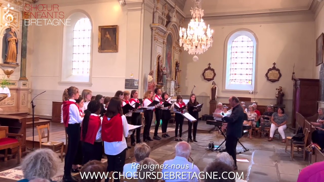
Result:
<svg viewBox="0 0 324 182"><path fill-rule="evenodd" d="M320 182L324 179L324 161L308 165L298 175L297 182Z"/></svg>

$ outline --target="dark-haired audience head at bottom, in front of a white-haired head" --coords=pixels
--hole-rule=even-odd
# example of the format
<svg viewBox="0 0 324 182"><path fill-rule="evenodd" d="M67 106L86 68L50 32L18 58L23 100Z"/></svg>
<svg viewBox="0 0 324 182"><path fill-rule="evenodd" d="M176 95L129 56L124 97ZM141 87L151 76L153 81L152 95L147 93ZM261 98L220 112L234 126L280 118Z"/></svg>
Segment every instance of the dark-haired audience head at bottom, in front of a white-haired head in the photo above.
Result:
<svg viewBox="0 0 324 182"><path fill-rule="evenodd" d="M217 172L217 176L213 177L213 175L205 175L204 182L235 182L235 178L233 178L233 167L218 161L214 160L213 162L209 163L204 170L205 173L213 174Z"/></svg>

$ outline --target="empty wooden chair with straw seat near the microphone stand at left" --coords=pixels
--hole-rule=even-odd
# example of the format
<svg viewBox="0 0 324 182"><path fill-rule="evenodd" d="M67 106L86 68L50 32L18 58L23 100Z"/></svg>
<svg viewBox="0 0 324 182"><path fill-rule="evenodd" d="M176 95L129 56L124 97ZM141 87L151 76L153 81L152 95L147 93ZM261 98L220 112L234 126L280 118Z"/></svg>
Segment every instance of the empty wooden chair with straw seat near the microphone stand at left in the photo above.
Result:
<svg viewBox="0 0 324 182"><path fill-rule="evenodd" d="M52 147L55 153L61 152L61 161L63 162L64 142L50 141L50 124L36 126L36 128L37 128L38 137L40 141L40 148L42 146L48 146L48 147ZM45 136L45 131L44 131L45 129L47 129L47 136ZM41 140L43 138L47 138L47 142L42 142ZM55 151L57 147L60 147L60 150Z"/></svg>

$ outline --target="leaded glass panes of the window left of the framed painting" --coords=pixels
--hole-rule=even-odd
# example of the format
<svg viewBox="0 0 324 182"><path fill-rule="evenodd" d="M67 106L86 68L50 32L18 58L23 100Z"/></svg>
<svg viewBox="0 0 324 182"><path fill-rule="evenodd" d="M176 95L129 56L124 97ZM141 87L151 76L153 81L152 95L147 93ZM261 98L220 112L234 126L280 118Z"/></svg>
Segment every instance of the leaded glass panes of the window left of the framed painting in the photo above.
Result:
<svg viewBox="0 0 324 182"><path fill-rule="evenodd" d="M79 19L73 29L73 75L89 75L91 49L89 18Z"/></svg>

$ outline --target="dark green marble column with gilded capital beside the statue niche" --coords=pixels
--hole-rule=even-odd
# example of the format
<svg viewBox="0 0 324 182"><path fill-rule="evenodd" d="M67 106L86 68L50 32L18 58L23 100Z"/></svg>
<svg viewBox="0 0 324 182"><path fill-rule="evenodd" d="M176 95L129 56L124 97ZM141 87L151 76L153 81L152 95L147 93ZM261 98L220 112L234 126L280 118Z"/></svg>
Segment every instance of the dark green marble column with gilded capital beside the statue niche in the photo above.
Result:
<svg viewBox="0 0 324 182"><path fill-rule="evenodd" d="M20 78L19 80L27 81L26 77L26 64L27 64L27 30L28 26L25 25L26 18L29 18L29 12L22 12L22 45L21 45L21 63L20 63Z"/></svg>

